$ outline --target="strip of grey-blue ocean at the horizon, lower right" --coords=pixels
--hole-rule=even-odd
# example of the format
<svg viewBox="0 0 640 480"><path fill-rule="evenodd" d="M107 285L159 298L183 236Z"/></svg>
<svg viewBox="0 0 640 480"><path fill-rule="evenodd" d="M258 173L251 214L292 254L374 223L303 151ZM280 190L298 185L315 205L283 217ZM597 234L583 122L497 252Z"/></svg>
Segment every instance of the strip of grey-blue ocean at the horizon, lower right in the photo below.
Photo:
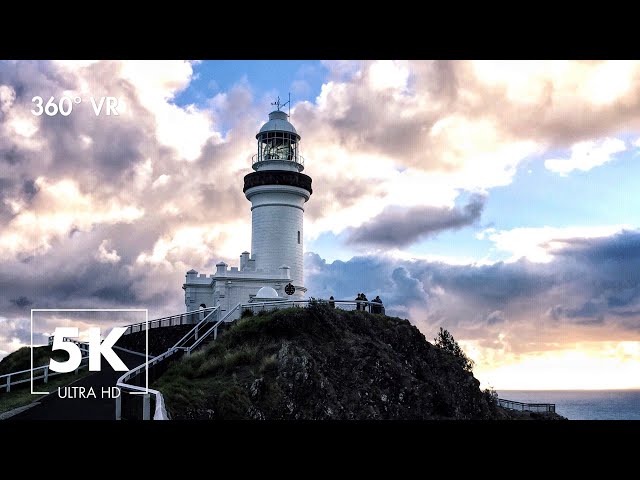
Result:
<svg viewBox="0 0 640 480"><path fill-rule="evenodd" d="M640 390L499 390L523 403L555 403L569 420L640 420Z"/></svg>

